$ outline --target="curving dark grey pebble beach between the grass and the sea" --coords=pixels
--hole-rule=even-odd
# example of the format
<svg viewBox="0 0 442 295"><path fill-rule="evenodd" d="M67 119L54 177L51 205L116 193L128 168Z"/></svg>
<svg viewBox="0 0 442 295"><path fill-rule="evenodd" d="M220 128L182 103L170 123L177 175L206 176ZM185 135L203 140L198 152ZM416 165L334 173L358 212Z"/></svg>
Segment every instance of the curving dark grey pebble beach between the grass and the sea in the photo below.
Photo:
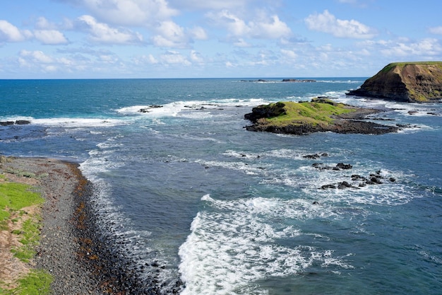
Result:
<svg viewBox="0 0 442 295"><path fill-rule="evenodd" d="M27 176L14 171L26 171ZM31 182L37 184L46 202L42 207L40 245L29 267L52 274L53 294L161 294L155 278L141 277L124 248L114 245L112 233L100 226L91 202L95 189L78 164L51 158L8 157L2 161L0 172L24 183L30 181L30 173L45 175ZM177 282L170 294L178 293L181 287Z"/></svg>

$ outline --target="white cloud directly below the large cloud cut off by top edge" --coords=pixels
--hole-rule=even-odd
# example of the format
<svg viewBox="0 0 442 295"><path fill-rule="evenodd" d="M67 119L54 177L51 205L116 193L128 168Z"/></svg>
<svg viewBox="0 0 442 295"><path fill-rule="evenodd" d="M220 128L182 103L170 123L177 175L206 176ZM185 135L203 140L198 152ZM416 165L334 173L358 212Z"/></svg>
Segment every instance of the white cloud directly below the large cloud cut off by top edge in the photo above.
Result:
<svg viewBox="0 0 442 295"><path fill-rule="evenodd" d="M133 44L143 41L143 36L131 30L111 28L106 23L99 23L92 16L80 16L78 21L85 25L94 42L111 44Z"/></svg>

